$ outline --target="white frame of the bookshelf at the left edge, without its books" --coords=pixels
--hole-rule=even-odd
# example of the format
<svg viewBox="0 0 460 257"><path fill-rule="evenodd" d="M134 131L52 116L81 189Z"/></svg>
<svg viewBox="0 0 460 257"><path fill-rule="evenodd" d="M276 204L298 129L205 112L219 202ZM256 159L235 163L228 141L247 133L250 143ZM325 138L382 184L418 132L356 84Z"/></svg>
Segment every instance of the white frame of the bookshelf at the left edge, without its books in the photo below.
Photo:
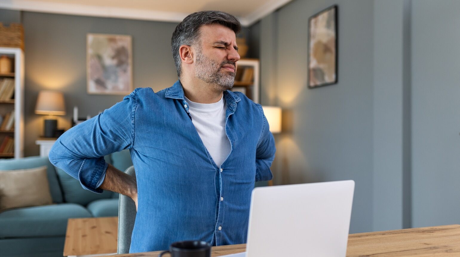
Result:
<svg viewBox="0 0 460 257"><path fill-rule="evenodd" d="M0 47L0 56L2 55L12 56L14 59L14 158L21 158L24 156L24 53L20 48ZM0 78L4 77L0 74ZM6 108L2 107L3 110ZM1 135L1 140L3 138Z"/></svg>

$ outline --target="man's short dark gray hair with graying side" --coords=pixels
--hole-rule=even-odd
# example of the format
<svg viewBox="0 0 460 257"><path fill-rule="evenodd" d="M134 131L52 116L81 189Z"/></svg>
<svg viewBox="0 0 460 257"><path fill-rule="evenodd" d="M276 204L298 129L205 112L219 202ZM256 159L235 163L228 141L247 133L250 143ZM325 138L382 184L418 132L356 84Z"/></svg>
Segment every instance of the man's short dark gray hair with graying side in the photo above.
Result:
<svg viewBox="0 0 460 257"><path fill-rule="evenodd" d="M241 31L241 23L238 19L224 11L199 11L190 14L180 22L174 30L171 38L171 50L173 51L174 64L176 65L177 76L180 78L182 72L179 56L181 45L193 45L200 39L200 27L207 24L220 24L230 28L237 35Z"/></svg>

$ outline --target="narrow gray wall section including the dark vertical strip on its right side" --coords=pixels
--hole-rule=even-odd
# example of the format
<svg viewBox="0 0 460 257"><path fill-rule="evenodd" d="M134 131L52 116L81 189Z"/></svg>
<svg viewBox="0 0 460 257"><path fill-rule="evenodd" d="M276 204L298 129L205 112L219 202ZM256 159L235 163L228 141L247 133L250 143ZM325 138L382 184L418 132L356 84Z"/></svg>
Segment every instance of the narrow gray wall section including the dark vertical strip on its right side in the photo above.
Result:
<svg viewBox="0 0 460 257"><path fill-rule="evenodd" d="M374 1L373 230L410 227L409 5Z"/></svg>

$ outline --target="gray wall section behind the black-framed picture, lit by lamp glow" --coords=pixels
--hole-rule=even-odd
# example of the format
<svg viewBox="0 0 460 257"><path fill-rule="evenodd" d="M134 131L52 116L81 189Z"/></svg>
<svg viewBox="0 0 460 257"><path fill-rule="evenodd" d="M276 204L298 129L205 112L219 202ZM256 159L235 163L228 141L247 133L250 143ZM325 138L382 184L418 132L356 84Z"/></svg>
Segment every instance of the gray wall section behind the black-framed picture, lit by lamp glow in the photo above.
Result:
<svg viewBox="0 0 460 257"><path fill-rule="evenodd" d="M339 5L338 84L307 89L308 17ZM261 101L292 127L276 135L275 184L353 179L351 232L372 230L373 1L294 0L260 22Z"/></svg>

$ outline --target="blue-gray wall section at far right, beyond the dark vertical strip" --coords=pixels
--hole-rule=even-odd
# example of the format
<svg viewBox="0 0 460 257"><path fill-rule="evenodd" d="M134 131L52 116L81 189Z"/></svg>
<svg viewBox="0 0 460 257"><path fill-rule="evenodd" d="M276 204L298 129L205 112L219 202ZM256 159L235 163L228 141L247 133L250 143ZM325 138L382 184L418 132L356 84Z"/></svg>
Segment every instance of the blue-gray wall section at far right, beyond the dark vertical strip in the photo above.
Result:
<svg viewBox="0 0 460 257"><path fill-rule="evenodd" d="M415 227L460 223L460 2L412 1Z"/></svg>

